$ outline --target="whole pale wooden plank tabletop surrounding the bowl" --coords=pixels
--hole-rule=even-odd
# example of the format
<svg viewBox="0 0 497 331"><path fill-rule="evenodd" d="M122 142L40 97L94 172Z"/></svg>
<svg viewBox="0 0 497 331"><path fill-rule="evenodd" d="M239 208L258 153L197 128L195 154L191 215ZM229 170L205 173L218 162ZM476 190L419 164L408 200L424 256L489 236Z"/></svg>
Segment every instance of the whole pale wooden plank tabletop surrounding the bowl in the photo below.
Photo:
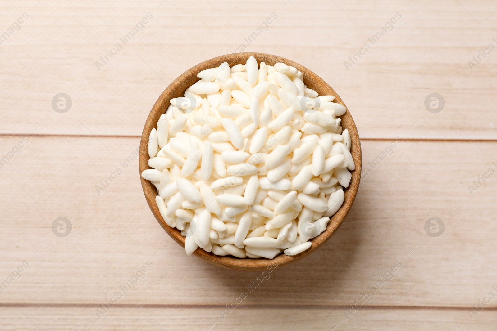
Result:
<svg viewBox="0 0 497 331"><path fill-rule="evenodd" d="M497 329L495 2L37 1L0 2L1 330ZM133 158L167 84L242 44L326 79L370 170L329 245L251 291L172 242Z"/></svg>

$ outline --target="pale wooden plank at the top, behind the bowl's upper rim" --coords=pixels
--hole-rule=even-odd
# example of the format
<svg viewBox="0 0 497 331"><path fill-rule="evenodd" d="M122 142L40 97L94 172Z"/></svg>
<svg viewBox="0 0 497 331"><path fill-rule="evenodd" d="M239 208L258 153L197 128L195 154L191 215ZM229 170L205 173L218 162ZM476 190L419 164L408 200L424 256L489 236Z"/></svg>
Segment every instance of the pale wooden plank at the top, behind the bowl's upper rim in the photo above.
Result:
<svg viewBox="0 0 497 331"><path fill-rule="evenodd" d="M492 53L473 71L468 66L495 44L491 1L191 1L188 10L177 0L86 2L0 5L3 30L30 15L0 48L0 133L140 135L169 82L248 44L244 38L274 12L269 30L247 50L320 74L349 107L361 137L497 138L496 58ZM98 70L95 62L147 12L154 18L145 30ZM368 38L396 12L402 19L372 45ZM368 42L371 50L347 70L344 62ZM57 93L73 101L66 114L52 109ZM425 109L430 93L445 100L439 114Z"/></svg>

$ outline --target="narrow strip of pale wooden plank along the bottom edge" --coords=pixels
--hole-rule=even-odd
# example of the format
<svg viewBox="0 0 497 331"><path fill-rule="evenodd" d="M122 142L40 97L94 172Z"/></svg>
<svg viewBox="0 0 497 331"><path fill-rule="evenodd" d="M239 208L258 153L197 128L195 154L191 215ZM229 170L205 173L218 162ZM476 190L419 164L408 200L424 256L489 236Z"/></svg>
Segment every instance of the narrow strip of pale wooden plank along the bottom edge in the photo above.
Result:
<svg viewBox="0 0 497 331"><path fill-rule="evenodd" d="M247 299L248 300L248 299ZM110 308L96 317L97 307L1 307L2 330L469 330L497 328L495 310L473 320L461 309L360 308L348 320L342 307L250 306L243 302L223 319L223 307L149 306ZM254 318L256 317L256 318ZM248 323L248 321L250 321ZM335 328L335 329L333 329ZM459 328L459 329L458 329Z"/></svg>

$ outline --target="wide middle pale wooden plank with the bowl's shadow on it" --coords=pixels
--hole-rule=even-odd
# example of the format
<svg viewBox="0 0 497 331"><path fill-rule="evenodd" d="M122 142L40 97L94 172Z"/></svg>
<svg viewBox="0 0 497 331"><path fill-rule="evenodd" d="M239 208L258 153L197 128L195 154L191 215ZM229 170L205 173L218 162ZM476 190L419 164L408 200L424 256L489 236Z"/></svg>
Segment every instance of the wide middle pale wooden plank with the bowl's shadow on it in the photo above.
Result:
<svg viewBox="0 0 497 331"><path fill-rule="evenodd" d="M1 137L6 149L0 155L19 140ZM120 164L138 143L122 137L30 137L0 170L0 282L22 261L29 263L3 290L1 303L102 304L147 261L154 266L123 304L226 305L257 280L260 272L187 258L172 242L145 202L137 160L126 169ZM364 174L330 245L274 270L251 302L348 306L400 261L402 267L368 304L477 304L497 285L497 186L491 177L471 195L468 185L496 169L497 143L405 140L393 149L388 140L362 143L363 169L371 173ZM391 155L378 161L385 151ZM375 159L373 169L368 163ZM95 186L118 167L122 173L98 195ZM58 217L72 222L68 237L54 235ZM425 233L430 217L445 224L439 238Z"/></svg>

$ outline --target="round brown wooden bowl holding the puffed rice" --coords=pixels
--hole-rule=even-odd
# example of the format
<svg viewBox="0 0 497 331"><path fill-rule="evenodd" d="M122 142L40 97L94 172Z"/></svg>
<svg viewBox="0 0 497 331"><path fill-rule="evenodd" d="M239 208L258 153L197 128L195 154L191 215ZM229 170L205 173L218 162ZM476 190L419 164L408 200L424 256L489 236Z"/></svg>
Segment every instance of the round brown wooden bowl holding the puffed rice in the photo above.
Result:
<svg viewBox="0 0 497 331"><path fill-rule="evenodd" d="M234 66L237 64L246 64L247 59L253 56L257 63L265 62L267 65L274 66L275 63L281 62L287 64L288 66L294 66L299 71L302 71L304 74L304 83L308 88L312 88L319 93L319 95L334 95L336 98L334 102L338 102L345 106L342 99L336 94L336 92L331 88L331 86L325 82L322 78L320 78L317 74L306 68L305 66L299 65L291 60L264 53L236 53L236 54L228 54L223 55L214 59L207 60L202 62L184 73L182 73L179 77L174 79L169 86L166 87L164 92L162 92L159 99L157 99L154 107L150 111L149 117L147 118L147 122L145 122L145 127L143 128L142 139L140 142L140 174L145 169L150 169L148 166L148 138L150 132L153 128L157 128L157 121L159 117L166 112L167 107L169 106L169 100L172 98L182 97L185 90L198 81L200 78L197 77L197 74L207 68L213 68L221 65L223 62L227 62L230 66ZM345 106L346 107L346 106ZM280 254L272 260L269 259L239 259L231 256L217 256L213 253L207 253L201 248L197 248L193 255L204 259L214 265L224 266L227 268L238 269L238 270L263 270L267 267L276 267L282 265L288 265L290 263L296 262L300 260L312 252L316 251L318 247L323 245L331 235L338 229L340 224L343 222L343 219L347 215L352 202L355 199L357 194L357 189L359 187L359 181L361 176L361 144L359 141L359 135L357 133L357 128L355 127L354 120L347 110L346 113L341 118L341 126L343 129L348 129L350 132L351 138L351 154L355 162L355 170L352 171L352 179L350 181L350 186L344 191L345 200L338 209L338 211L331 217L330 222L328 223L327 229L321 233L318 237L311 239L312 246L308 250L295 255L295 256L287 256L284 254ZM174 241L176 241L179 245L184 248L185 238L181 236L180 231L176 228L169 227L164 219L162 218L159 208L155 202L155 198L157 196L157 190L155 186L153 186L149 181L143 179L140 175L140 180L142 181L143 192L145 193L145 198L152 210L152 213L156 217L157 221L164 230L167 232L169 236L171 236Z"/></svg>

